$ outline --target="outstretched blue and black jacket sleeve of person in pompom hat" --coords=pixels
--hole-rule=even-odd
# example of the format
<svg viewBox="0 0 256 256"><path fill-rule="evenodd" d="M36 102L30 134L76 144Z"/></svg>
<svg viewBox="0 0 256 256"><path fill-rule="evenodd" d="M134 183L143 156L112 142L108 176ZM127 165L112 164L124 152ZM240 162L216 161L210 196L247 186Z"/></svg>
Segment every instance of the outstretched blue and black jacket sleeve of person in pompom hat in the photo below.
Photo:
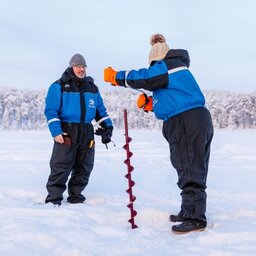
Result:
<svg viewBox="0 0 256 256"><path fill-rule="evenodd" d="M168 68L164 61L158 61L149 68L119 71L116 74L116 82L125 87L153 91L168 85Z"/></svg>

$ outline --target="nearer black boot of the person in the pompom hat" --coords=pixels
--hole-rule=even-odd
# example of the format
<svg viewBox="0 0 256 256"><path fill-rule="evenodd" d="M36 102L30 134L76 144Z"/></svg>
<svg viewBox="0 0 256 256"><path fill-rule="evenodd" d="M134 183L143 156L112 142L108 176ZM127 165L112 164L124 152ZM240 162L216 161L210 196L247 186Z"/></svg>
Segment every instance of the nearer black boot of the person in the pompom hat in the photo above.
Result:
<svg viewBox="0 0 256 256"><path fill-rule="evenodd" d="M207 223L198 220L185 220L179 225L172 226L172 231L177 234L185 234L191 231L204 231Z"/></svg>

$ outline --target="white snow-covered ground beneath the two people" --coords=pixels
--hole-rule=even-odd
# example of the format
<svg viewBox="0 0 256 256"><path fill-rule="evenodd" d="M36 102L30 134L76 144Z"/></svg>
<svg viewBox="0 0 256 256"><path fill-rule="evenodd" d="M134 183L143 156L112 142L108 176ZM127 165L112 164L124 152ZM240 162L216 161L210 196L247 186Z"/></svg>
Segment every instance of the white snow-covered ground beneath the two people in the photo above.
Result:
<svg viewBox="0 0 256 256"><path fill-rule="evenodd" d="M0 255L255 255L256 130L216 130L208 176L208 228L175 235L180 191L161 131L131 130L138 229L129 219L124 132L106 150L97 138L85 204L45 205L48 131L0 132Z"/></svg>

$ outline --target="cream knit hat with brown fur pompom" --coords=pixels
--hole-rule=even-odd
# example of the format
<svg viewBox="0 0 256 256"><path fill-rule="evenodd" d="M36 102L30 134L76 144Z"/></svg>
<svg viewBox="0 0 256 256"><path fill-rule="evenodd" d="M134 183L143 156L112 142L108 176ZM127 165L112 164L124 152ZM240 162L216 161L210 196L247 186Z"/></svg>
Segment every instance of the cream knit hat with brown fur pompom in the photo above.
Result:
<svg viewBox="0 0 256 256"><path fill-rule="evenodd" d="M166 43L166 40L162 34L152 35L150 38L150 44L152 48L148 56L148 62L158 61L164 59L170 47Z"/></svg>

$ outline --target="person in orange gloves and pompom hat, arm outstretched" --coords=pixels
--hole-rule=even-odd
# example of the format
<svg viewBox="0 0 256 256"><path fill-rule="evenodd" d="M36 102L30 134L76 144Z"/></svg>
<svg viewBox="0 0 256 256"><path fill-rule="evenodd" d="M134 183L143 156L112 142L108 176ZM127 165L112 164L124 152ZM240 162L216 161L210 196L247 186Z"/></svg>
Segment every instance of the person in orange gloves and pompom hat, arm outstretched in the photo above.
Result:
<svg viewBox="0 0 256 256"><path fill-rule="evenodd" d="M104 70L104 79L112 85L145 89L137 105L154 111L163 120L163 135L169 143L172 165L178 173L181 210L170 220L181 222L173 232L204 230L207 225L206 178L213 137L211 115L205 98L189 71L188 52L170 49L161 34L151 37L149 68L131 71ZM157 171L157 170L156 170Z"/></svg>

